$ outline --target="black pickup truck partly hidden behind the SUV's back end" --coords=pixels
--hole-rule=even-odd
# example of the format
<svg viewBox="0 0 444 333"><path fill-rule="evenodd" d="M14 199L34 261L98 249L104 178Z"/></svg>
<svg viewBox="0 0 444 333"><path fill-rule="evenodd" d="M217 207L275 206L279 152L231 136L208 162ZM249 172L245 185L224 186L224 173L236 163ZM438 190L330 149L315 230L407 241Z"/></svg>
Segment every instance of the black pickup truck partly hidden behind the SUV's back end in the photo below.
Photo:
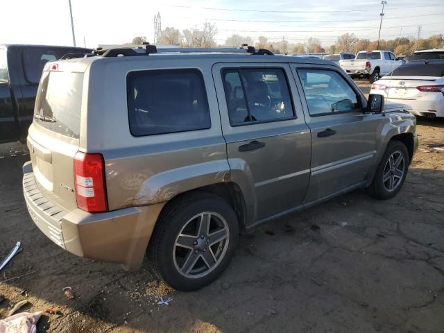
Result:
<svg viewBox="0 0 444 333"><path fill-rule="evenodd" d="M46 62L67 53L91 51L69 46L0 44L0 142L26 140Z"/></svg>

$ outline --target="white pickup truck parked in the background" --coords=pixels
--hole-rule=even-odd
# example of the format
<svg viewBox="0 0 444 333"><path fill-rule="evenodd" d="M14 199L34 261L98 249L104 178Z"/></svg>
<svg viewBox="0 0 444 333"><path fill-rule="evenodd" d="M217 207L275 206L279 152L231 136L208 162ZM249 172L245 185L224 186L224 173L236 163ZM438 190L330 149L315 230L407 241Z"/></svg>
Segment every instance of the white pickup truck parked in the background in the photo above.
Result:
<svg viewBox="0 0 444 333"><path fill-rule="evenodd" d="M358 52L353 60L340 60L339 66L352 78L366 76L373 83L402 63L391 51L376 50Z"/></svg>

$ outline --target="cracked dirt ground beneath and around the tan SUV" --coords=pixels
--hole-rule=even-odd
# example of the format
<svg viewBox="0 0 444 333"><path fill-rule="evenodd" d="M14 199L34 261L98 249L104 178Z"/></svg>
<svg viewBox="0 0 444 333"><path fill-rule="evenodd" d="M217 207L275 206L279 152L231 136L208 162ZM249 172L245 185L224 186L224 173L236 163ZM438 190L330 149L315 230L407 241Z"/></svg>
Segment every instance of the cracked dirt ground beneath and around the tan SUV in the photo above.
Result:
<svg viewBox="0 0 444 333"><path fill-rule="evenodd" d="M427 146L444 143L444 121L418 119L417 133L396 198L360 189L268 223L192 293L158 284L146 262L128 273L53 244L22 198L26 147L0 145L0 256L23 244L0 272L0 318L28 300L22 311L60 311L38 332L444 332L444 153Z"/></svg>

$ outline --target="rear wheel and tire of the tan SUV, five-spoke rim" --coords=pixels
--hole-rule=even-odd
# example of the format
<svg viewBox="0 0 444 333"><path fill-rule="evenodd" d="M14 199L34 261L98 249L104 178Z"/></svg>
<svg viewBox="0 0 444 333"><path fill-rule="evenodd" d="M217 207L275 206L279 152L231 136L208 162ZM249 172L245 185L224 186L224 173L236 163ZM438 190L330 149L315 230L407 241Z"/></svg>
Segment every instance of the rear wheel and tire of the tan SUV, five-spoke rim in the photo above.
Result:
<svg viewBox="0 0 444 333"><path fill-rule="evenodd" d="M207 221L209 231L205 232ZM238 238L232 207L219 196L198 192L167 204L156 223L148 257L160 280L176 290L193 291L221 275Z"/></svg>

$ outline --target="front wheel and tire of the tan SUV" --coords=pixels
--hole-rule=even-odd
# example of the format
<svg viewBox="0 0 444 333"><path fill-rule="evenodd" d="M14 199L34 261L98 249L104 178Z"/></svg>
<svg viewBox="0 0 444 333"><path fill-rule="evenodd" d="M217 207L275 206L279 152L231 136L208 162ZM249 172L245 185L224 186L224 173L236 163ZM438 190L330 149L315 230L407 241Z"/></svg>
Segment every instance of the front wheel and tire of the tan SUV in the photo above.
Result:
<svg viewBox="0 0 444 333"><path fill-rule="evenodd" d="M393 157L393 160L389 160L391 157ZM402 160L397 160L398 157L402 157ZM396 164L398 162L397 167ZM407 151L407 147L400 141L393 140L388 142L373 181L370 187L368 187L370 195L381 200L396 196L404 184L409 164L409 151ZM402 171L402 174L400 171Z"/></svg>

